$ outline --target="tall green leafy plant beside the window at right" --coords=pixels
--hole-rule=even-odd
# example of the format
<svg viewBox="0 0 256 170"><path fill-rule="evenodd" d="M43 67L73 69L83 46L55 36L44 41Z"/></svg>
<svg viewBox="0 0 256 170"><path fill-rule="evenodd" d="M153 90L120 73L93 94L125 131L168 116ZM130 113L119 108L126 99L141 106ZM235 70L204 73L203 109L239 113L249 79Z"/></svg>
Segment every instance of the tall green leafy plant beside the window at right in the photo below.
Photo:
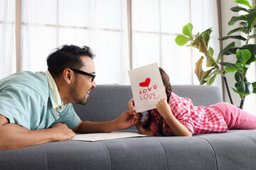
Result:
<svg viewBox="0 0 256 170"><path fill-rule="evenodd" d="M213 84L215 77L220 74L224 79L225 87L230 98L230 103L233 103L233 100L230 96L225 74L227 72L235 72L236 83L235 88L232 89L235 91L235 93L240 95L240 108L242 108L243 103L245 102L245 96L252 93L256 94L256 81L250 83L246 79L246 73L250 68L250 64L252 62L256 62L256 45L250 44L250 40L252 38L256 38L256 34L253 34L253 30L256 27L256 5L250 6L247 0L237 0L235 2L238 4L243 4L247 7L243 8L241 6L235 6L230 8L230 10L234 12L245 11L247 14L242 16L233 16L228 22L228 25L233 26L236 22L240 21L240 27L230 30L230 32L228 32L228 36L219 38L219 40L227 40L229 38L243 40L245 41L245 45L242 45L242 47L236 47L235 42L231 42L222 51L220 51L217 59L215 60L213 58L213 48L208 47L212 29L209 28L203 31L201 34L198 33L194 38L192 35L193 25L191 23L188 23L183 27L184 35L178 35L175 41L177 45L186 45L186 43L190 41L191 44L186 46L196 47L200 52L203 52L204 56L202 56L198 62L196 62L195 69L195 73L200 81L200 84L211 85ZM233 35L233 33L239 33L239 35ZM240 33L242 33L242 35L240 35ZM232 54L234 54L237 59L235 63L220 62L221 57ZM204 72L202 69L204 58L206 58L206 67L210 67L206 72ZM220 65L223 65L225 69L221 70Z"/></svg>

